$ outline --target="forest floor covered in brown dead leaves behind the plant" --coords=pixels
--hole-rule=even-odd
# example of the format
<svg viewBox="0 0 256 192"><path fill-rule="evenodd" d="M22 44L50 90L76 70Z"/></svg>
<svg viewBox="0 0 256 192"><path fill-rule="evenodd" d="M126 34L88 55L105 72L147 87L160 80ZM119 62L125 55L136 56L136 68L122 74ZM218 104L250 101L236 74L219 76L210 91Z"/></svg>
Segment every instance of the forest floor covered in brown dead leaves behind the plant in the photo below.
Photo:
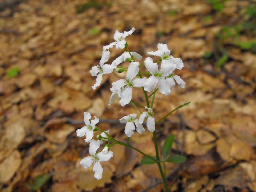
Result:
<svg viewBox="0 0 256 192"><path fill-rule="evenodd" d="M0 2L0 191L161 191L156 164L113 146L102 162L103 178L79 162L89 154L76 130L83 113L98 127L126 140L118 119L136 113L132 105L108 105L111 83L103 76L92 89L89 71L113 34L131 30L129 49L147 57L166 43L185 68L185 82L167 97L156 94L155 119L184 102L156 127L159 145L174 134L168 164L172 191L256 191L256 3L248 0L41 0ZM124 50L111 50L114 60ZM141 61L143 62L143 61ZM141 89L134 100L143 100ZM135 133L130 144L154 155L152 133ZM32 189L31 189L32 188Z"/></svg>

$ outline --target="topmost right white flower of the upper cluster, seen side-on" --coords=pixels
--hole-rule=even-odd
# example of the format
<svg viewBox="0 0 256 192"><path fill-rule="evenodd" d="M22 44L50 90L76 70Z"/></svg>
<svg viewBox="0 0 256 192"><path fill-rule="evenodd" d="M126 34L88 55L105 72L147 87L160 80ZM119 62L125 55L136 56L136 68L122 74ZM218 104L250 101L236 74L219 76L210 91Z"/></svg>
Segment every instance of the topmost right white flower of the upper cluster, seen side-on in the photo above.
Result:
<svg viewBox="0 0 256 192"><path fill-rule="evenodd" d="M168 49L167 44L158 43L157 51L148 52L148 55L156 55L162 58L162 62L169 63L173 60L173 63L176 65L177 69L182 69L184 67L184 63L180 58L174 58L171 54L171 51Z"/></svg>

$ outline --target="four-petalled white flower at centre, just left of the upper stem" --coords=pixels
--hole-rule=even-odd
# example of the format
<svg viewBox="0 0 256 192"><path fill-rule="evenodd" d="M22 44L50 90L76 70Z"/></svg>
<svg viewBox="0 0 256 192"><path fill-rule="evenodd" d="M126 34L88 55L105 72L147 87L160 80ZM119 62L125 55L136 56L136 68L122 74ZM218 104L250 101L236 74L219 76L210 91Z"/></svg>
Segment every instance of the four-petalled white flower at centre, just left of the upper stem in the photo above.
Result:
<svg viewBox="0 0 256 192"><path fill-rule="evenodd" d="M121 106L125 106L132 99L132 88L133 87L143 87L146 81L146 78L135 78L133 79L139 72L139 62L131 62L125 79L119 79L116 82L112 83L112 88L110 89L112 92L117 92L118 89L125 86L123 92L121 93L121 99L119 101Z"/></svg>

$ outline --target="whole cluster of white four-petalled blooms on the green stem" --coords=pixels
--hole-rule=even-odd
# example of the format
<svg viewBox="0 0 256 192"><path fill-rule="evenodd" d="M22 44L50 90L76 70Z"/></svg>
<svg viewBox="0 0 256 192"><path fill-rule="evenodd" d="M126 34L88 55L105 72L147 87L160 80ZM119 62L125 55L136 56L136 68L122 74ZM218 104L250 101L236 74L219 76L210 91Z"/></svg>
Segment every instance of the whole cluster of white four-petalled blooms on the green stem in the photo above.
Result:
<svg viewBox="0 0 256 192"><path fill-rule="evenodd" d="M99 65L92 67L92 70L90 71L92 76L97 76L96 82L92 86L93 89L96 89L98 86L100 86L103 74L109 74L113 71L118 73L126 71L124 79L119 79L112 83L112 88L110 89L112 94L109 100L109 105L111 105L115 99L120 99L119 103L123 107L130 102L133 102L133 87L142 87L145 95L146 91L151 92L154 90L155 94L155 92L159 90L159 92L165 96L170 94L172 87L174 87L176 83L181 88L185 87L185 82L179 76L173 73L175 69L181 70L184 67L184 64L180 58L174 58L172 55L170 55L171 51L168 49L167 44L159 43L157 44L157 51L148 52L148 55L159 57L157 62L154 62L151 57L146 57L142 64L135 61L135 59L141 60L142 56L137 52L130 52L128 49L128 44L125 40L125 38L131 35L134 31L135 28L132 28L130 31L124 31L124 33L120 33L116 30L114 34L115 41L103 47L102 58L99 62ZM110 58L110 49L114 46L116 46L117 49L126 48L126 51L114 59L110 64L108 63ZM130 63L128 68L124 68L120 65L125 61ZM159 64L160 62L161 64ZM140 72L140 67L143 65L146 67L148 72ZM143 75L145 76L143 77ZM135 113L129 114L119 119L121 123L126 123L124 132L128 137L131 137L134 134L134 130L140 134L145 131L142 125L145 118L147 119L146 126L148 130L151 132L155 131L155 119L152 106L153 103L151 107L149 107L149 105L146 106L144 109L147 111L141 112L139 119L136 119L137 114ZM143 105L140 105L140 107L143 107ZM109 135L109 130L105 132L102 131L102 134L97 135L96 137L98 140L94 140L93 132L100 130L96 126L96 124L99 122L99 118L94 117L94 120L91 120L91 122L90 119L91 114L89 112L84 112L85 126L76 131L78 137L85 136L85 142L90 143L89 153L91 156L82 159L80 164L84 166L84 168L89 168L94 162L94 176L96 179L100 179L103 172L100 161L108 161L111 157L113 157L113 152L109 149L116 143L110 145L110 142L115 142L116 140L112 139L112 137ZM100 145L103 144L103 141L107 141L108 144L104 146L101 152L96 153L96 151L100 148Z"/></svg>

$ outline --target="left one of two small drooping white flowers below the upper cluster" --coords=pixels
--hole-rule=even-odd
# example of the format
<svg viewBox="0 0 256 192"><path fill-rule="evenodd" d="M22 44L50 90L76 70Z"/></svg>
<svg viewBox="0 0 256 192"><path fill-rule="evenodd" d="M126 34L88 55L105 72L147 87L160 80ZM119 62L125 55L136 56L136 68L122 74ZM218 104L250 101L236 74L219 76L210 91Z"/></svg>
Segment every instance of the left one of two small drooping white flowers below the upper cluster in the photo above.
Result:
<svg viewBox="0 0 256 192"><path fill-rule="evenodd" d="M128 137L131 137L132 135L133 135L133 131L135 130L135 126L134 126L134 124L136 125L136 130L137 130L137 132L138 133L143 133L144 131L145 131L145 129L143 128L143 126L139 123L139 120L138 119L136 119L136 116L137 116L137 114L135 114L135 113L132 113L132 114L129 114L129 115L127 115L127 116L124 116L124 117L122 117L121 119L119 119L119 121L121 122L121 123L125 123L125 122L127 122L126 123L126 125L125 125L125 130L124 130L124 132L125 132L125 134L128 136Z"/></svg>

